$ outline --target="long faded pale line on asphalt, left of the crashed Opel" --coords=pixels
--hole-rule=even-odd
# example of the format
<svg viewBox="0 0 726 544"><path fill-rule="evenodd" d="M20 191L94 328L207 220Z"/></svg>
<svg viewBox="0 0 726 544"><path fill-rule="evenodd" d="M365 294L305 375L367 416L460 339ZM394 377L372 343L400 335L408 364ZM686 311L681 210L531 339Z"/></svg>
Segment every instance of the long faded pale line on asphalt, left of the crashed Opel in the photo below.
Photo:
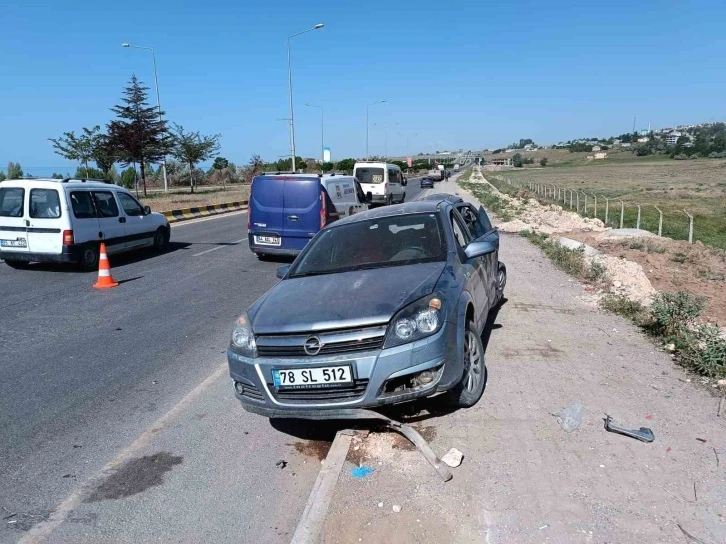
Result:
<svg viewBox="0 0 726 544"><path fill-rule="evenodd" d="M151 444L154 437L162 429L169 426L169 424L177 416L179 416L189 405L197 400L202 393L209 389L214 382L222 378L227 374L228 366L224 362L212 372L207 378L197 385L194 389L189 391L179 403L176 404L166 414L157 419L154 424L145 430L141 435L133 441L133 443L119 453L111 462L109 462L101 471L89 478L80 487L76 488L62 503L60 503L55 510L50 514L47 520L36 523L30 531L25 533L18 544L40 544L46 542L51 536L53 531L66 519L68 516L80 506L83 499L95 489L109 474L112 474L114 470L118 469L120 465L136 457L142 449L146 448Z"/></svg>

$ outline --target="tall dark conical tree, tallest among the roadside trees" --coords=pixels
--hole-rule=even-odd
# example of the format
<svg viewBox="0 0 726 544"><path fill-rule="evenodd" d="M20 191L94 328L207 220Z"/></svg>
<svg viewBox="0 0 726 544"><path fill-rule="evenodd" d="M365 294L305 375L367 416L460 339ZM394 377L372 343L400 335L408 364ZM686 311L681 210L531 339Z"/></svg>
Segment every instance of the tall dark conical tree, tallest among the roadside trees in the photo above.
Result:
<svg viewBox="0 0 726 544"><path fill-rule="evenodd" d="M128 166L138 163L141 167L141 181L146 196L146 173L148 162L158 163L169 151L166 121L159 119L163 112L148 103L149 88L135 75L123 91L122 103L111 108L117 119L108 125L111 145L118 152L118 160Z"/></svg>

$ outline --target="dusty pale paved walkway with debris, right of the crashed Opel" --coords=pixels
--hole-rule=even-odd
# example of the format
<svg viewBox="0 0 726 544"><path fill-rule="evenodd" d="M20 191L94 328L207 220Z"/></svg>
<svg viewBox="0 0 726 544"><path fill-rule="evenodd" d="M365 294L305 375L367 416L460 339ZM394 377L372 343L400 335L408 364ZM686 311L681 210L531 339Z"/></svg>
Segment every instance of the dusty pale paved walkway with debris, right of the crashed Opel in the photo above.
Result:
<svg viewBox="0 0 726 544"><path fill-rule="evenodd" d="M440 189L461 192L452 185ZM322 542L726 541L718 399L524 238L504 234L501 258L507 302L482 400L414 419L439 455L464 453L454 479L372 434L351 451ZM584 415L567 433L553 414L575 402ZM606 432L605 413L655 441ZM374 471L356 478L360 464Z"/></svg>

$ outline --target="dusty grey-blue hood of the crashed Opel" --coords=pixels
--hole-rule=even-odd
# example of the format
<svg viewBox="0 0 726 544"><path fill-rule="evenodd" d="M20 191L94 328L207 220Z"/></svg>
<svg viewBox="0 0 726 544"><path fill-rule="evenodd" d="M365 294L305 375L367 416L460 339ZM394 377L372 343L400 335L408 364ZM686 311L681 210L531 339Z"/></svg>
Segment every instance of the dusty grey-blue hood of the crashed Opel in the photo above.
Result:
<svg viewBox="0 0 726 544"><path fill-rule="evenodd" d="M285 279L249 310L255 334L386 323L433 292L445 262Z"/></svg>

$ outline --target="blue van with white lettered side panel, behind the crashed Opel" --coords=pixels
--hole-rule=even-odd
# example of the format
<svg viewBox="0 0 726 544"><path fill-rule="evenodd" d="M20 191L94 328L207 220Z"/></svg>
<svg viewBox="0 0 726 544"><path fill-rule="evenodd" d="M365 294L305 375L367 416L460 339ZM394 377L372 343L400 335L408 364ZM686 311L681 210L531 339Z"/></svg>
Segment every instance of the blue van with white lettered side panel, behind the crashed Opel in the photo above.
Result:
<svg viewBox="0 0 726 544"><path fill-rule="evenodd" d="M252 180L247 215L250 249L260 258L295 256L328 223L367 209L365 200L360 184L352 176L288 173L256 176ZM335 202L340 210L336 209Z"/></svg>

